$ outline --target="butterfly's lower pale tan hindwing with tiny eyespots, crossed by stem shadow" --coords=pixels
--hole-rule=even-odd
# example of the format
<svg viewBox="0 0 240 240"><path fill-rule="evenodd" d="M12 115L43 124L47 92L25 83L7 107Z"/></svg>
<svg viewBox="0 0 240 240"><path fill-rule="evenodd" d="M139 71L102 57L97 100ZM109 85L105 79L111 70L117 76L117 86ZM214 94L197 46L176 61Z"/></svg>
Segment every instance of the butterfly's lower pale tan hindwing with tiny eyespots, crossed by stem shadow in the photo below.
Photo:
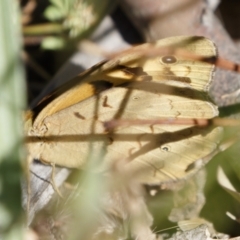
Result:
<svg viewBox="0 0 240 240"><path fill-rule="evenodd" d="M108 169L114 161L125 160L127 170L139 172L144 183L152 184L192 174L193 171L187 171L189 166L217 148L220 128L151 125L124 127L106 133L102 123L116 115L120 119L186 115L203 118L214 116L216 107L205 100L160 93L156 85L155 92L150 91L150 87L147 89L146 84L141 87L138 84L138 89L132 86L109 89L45 118L43 124L47 130L38 143L40 155L37 158L81 168L92 153L97 159L96 169L102 170ZM122 99L126 96L128 99L123 105Z"/></svg>

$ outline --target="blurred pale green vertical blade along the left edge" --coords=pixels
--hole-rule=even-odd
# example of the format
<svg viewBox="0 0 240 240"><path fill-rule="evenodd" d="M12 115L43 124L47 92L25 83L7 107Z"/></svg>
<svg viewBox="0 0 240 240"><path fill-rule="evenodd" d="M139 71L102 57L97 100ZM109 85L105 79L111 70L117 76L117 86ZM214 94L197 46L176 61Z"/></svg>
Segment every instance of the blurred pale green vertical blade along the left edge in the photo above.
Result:
<svg viewBox="0 0 240 240"><path fill-rule="evenodd" d="M25 83L17 1L0 1L0 231L2 239L23 239L21 206L22 110Z"/></svg>

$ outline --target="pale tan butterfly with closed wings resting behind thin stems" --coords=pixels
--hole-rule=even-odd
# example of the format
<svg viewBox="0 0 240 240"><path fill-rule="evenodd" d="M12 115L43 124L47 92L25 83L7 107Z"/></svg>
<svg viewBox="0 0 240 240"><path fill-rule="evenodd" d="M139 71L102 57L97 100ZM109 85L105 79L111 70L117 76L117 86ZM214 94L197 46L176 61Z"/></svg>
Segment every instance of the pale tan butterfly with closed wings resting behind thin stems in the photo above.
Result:
<svg viewBox="0 0 240 240"><path fill-rule="evenodd" d="M164 48L216 57L210 40L177 36L134 47L93 66L28 111L29 158L84 169L91 156L92 170L98 172L124 160L124 171L153 185L193 175L216 150L221 127L151 124L107 131L103 126L114 119L218 116L208 95L214 65L177 54L142 54Z"/></svg>

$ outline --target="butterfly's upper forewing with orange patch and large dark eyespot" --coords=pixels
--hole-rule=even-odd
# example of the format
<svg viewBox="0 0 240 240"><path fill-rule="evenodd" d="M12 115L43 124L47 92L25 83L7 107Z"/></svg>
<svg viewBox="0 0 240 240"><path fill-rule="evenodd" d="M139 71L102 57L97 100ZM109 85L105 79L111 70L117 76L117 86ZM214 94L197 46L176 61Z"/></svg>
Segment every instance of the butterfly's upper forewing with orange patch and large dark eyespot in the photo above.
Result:
<svg viewBox="0 0 240 240"><path fill-rule="evenodd" d="M40 128L47 116L101 91L103 81L105 85L108 83L105 88L128 82L157 81L207 92L212 81L214 65L165 53L165 49L174 53L174 49L178 48L206 58L214 58L217 54L216 47L209 39L192 36L170 37L131 48L79 74L44 98L33 109L34 126ZM149 51L152 53L148 54ZM168 57L173 57L176 61L168 61Z"/></svg>

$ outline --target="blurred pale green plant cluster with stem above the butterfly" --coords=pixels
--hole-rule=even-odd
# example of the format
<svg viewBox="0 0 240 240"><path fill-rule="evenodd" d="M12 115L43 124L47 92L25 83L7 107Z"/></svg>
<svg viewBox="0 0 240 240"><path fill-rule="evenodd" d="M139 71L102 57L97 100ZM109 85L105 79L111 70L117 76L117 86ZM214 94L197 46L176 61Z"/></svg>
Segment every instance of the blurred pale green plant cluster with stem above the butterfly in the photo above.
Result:
<svg viewBox="0 0 240 240"><path fill-rule="evenodd" d="M44 36L41 46L56 50L76 46L80 39L95 29L117 1L50 0L50 3L44 11L49 23L24 26L23 32L26 36L48 34Z"/></svg>

